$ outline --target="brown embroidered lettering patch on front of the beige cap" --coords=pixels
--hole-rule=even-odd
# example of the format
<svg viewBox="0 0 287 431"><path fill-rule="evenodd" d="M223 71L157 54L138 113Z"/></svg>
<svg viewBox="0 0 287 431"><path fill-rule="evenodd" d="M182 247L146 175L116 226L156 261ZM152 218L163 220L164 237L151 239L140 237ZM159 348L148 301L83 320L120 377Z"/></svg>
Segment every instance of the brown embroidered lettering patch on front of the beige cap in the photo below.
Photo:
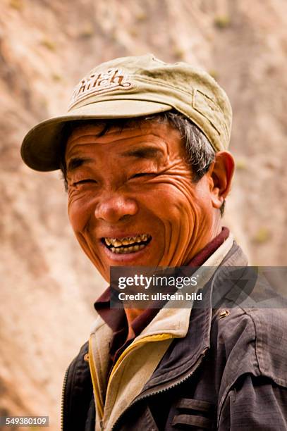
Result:
<svg viewBox="0 0 287 431"><path fill-rule="evenodd" d="M106 72L92 73L92 75L83 78L75 87L69 109L91 95L111 92L116 88L127 90L133 87L129 75L121 69L111 68Z"/></svg>

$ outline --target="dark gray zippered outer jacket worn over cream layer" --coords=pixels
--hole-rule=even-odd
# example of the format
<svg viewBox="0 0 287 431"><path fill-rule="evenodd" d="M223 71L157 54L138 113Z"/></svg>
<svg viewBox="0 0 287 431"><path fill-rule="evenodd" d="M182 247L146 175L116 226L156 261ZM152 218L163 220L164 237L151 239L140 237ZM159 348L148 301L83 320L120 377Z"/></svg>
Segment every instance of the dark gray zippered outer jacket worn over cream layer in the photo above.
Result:
<svg viewBox="0 0 287 431"><path fill-rule="evenodd" d="M234 244L224 265L242 265L242 256ZM244 281L245 276L239 270L238 280ZM205 306L190 314L188 334L173 340L113 430L287 430L286 308L281 300L276 303L279 299L272 308L234 306L238 293L235 298L233 292L246 283L237 282L233 288L232 282L216 277L209 283ZM220 289L220 301L216 301L221 304L214 308L212 295ZM87 343L66 373L64 431L94 430L86 353Z"/></svg>

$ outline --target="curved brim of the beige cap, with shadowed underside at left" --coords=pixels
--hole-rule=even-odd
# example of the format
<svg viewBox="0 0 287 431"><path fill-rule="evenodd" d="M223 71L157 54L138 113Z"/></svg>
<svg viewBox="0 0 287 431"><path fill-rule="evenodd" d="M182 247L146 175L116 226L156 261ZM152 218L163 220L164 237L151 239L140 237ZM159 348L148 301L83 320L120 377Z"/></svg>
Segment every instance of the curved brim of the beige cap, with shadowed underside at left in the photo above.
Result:
<svg viewBox="0 0 287 431"><path fill-rule="evenodd" d="M121 99L100 101L73 109L66 115L42 121L23 139L21 156L32 169L47 171L59 169L61 147L64 142L63 126L73 120L94 120L105 118L133 118L170 111L172 106L153 101Z"/></svg>

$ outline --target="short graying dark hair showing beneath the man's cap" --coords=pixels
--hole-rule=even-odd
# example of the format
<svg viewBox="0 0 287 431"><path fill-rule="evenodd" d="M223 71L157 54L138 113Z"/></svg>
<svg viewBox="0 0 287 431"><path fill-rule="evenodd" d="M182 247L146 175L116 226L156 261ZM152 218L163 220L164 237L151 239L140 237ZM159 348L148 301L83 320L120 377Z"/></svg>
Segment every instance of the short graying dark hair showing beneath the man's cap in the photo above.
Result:
<svg viewBox="0 0 287 431"><path fill-rule="evenodd" d="M135 123L141 122L158 122L158 123L169 123L171 127L178 130L181 134L183 142L185 142L186 150L186 161L191 167L191 172L193 175L193 182L198 182L209 170L209 166L215 159L215 151L210 144L207 137L202 133L202 131L185 115L178 113L177 111L167 111L165 113L159 113L154 115L149 115L147 117L140 118L116 118L109 120L95 120L97 124L103 126L102 132L99 136L103 136L108 132L111 127L120 127L123 130L125 127L134 125ZM71 132L75 127L81 125L87 125L92 123L92 120L75 120L71 123L66 123L63 129L63 136L65 137L65 143ZM65 188L67 190L67 177L66 177L66 159L65 159L66 146L62 150L60 168L63 174L63 180L65 183ZM224 213L225 201L222 204L220 211L221 215Z"/></svg>

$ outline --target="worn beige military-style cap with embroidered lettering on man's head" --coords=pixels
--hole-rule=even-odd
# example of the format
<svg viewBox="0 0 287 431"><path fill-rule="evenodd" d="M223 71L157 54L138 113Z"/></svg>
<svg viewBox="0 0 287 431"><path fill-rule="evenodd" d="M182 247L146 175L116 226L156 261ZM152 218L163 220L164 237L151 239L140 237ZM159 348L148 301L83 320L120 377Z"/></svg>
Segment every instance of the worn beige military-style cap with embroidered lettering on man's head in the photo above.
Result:
<svg viewBox="0 0 287 431"><path fill-rule="evenodd" d="M21 156L32 169L59 169L68 121L133 118L171 109L193 120L216 151L228 148L232 111L224 90L199 68L164 63L147 54L116 58L92 69L75 87L67 113L28 132Z"/></svg>

